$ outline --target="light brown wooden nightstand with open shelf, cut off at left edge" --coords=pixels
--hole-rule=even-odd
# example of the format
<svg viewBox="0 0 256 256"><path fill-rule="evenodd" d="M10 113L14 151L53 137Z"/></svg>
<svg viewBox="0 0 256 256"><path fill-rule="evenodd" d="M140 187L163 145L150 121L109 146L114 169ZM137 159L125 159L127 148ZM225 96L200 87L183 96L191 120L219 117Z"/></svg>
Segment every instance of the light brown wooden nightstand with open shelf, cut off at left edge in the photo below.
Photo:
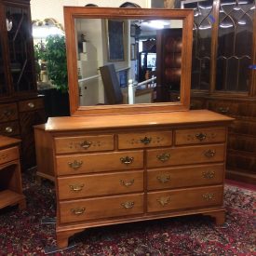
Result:
<svg viewBox="0 0 256 256"><path fill-rule="evenodd" d="M0 209L19 205L26 208L20 174L20 140L0 136Z"/></svg>

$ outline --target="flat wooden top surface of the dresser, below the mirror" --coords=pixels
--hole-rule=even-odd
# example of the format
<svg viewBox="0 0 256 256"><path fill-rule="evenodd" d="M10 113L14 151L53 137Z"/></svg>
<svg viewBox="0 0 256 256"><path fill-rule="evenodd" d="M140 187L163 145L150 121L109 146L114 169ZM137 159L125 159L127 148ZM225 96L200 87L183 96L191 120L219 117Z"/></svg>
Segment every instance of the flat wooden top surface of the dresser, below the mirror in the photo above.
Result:
<svg viewBox="0 0 256 256"><path fill-rule="evenodd" d="M50 117L47 131L85 130L102 128L143 128L186 126L191 124L229 124L234 118L208 110L158 112L136 115L88 115ZM218 125L218 124L217 124Z"/></svg>

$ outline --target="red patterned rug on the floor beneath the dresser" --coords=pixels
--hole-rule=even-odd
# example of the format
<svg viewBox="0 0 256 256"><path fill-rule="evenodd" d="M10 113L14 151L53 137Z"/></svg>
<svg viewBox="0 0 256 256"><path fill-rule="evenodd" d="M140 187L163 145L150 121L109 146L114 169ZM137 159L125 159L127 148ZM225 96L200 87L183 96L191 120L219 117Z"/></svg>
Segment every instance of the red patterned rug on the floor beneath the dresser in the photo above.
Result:
<svg viewBox="0 0 256 256"><path fill-rule="evenodd" d="M56 245L54 186L39 186L34 175L23 175L27 209L0 210L0 255L45 255ZM256 193L225 186L226 222L216 226L207 216L135 222L91 228L72 237L71 249L50 255L256 255Z"/></svg>

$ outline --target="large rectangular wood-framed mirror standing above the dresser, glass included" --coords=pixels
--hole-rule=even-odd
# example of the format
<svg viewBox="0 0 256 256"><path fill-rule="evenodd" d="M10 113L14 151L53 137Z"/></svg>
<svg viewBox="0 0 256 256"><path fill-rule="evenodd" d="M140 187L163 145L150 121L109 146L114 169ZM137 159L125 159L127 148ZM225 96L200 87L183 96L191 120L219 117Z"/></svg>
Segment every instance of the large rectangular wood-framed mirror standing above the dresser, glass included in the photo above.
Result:
<svg viewBox="0 0 256 256"><path fill-rule="evenodd" d="M71 115L188 110L193 10L64 7Z"/></svg>

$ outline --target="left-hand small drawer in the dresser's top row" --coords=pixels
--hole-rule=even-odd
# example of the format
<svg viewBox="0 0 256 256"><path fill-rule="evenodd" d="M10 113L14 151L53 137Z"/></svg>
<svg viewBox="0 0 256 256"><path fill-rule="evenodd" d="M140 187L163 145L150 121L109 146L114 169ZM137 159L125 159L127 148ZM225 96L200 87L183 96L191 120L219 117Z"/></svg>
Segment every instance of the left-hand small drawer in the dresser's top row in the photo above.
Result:
<svg viewBox="0 0 256 256"><path fill-rule="evenodd" d="M57 154L114 150L114 135L55 138Z"/></svg>

